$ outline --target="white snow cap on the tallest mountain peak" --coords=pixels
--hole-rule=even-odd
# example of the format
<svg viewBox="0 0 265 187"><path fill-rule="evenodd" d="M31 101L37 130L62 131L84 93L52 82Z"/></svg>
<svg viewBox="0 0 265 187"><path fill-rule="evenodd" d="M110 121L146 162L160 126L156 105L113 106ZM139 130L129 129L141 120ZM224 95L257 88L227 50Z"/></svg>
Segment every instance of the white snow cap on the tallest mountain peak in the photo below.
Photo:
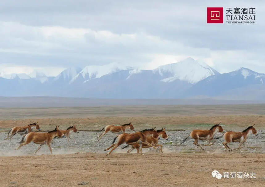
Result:
<svg viewBox="0 0 265 187"><path fill-rule="evenodd" d="M154 73L158 72L161 76L167 77L162 79L164 82L172 82L176 79L188 81L188 83L197 83L212 75L220 73L208 66L206 63L198 62L192 58L185 59L178 63L159 66Z"/></svg>

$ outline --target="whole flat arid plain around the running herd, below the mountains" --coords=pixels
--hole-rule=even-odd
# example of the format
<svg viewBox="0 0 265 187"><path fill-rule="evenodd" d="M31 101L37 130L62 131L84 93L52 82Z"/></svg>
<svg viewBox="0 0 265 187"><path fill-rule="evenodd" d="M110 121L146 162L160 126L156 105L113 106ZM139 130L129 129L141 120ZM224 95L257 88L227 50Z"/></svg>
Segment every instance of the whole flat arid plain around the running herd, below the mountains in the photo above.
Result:
<svg viewBox="0 0 265 187"><path fill-rule="evenodd" d="M58 125L60 129L65 129L76 124L81 131L80 137L87 141L90 141L90 135L97 136L98 132L94 131L108 124L129 122L133 123L136 130L166 127L169 134L169 141L162 141L166 149L164 154L149 148L150 151L146 150L144 156L117 150L106 157L103 153L106 147L101 148L100 145L99 151L73 154L57 152L56 155L50 155L47 146L43 146L41 154L37 156L33 155L31 149L27 155L1 156L0 182L2 186L262 186L265 182L264 109L264 104L0 108L1 138L13 126L35 121L38 121L42 131L52 130ZM242 131L255 124L259 132L258 138L250 135L250 144L247 144L246 149L230 153L224 152L222 139L209 149L205 148L205 151L196 148L191 139L182 146L178 145L191 130L209 129L219 122L225 131ZM86 134L87 131L92 134ZM75 134L74 137L78 135ZM15 136L11 144L9 140L1 140L4 146L1 152L10 148L14 155L14 147L18 146L16 142L22 137ZM110 145L114 137L114 134L109 133L100 142L104 146ZM78 140L71 146L78 147ZM58 143L59 140L56 141ZM55 152L59 149L57 143L52 145ZM94 138L93 144L97 144ZM65 146L68 145L65 143ZM35 150L37 145L31 144L29 147ZM173 147L174 150L171 150ZM26 150L25 148L24 151ZM256 178L217 179L211 176L213 170L219 170L220 173L255 172Z"/></svg>

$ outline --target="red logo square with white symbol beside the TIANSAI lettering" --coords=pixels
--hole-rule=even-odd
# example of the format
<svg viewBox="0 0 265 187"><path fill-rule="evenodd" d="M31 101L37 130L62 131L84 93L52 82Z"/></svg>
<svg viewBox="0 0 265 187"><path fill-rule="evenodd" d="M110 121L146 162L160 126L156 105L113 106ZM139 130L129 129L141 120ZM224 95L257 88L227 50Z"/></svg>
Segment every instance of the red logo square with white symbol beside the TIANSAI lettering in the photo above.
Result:
<svg viewBox="0 0 265 187"><path fill-rule="evenodd" d="M223 7L207 7L207 23L223 23Z"/></svg>

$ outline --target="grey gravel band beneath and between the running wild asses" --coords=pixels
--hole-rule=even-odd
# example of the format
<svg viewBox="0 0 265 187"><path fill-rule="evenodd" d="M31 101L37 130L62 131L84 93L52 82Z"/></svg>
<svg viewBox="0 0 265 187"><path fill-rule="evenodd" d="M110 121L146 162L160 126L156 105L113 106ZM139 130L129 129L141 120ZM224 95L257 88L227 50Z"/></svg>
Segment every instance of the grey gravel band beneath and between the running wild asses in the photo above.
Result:
<svg viewBox="0 0 265 187"><path fill-rule="evenodd" d="M1 129L0 129L1 130ZM97 152L104 153L104 149L108 148L114 137L117 134L108 133L101 138L101 140L97 140L97 136L101 132L85 132L79 131L80 133L72 133L71 142L68 143L66 138L56 138L53 140L51 147L53 154L71 154L76 152ZM193 144L193 139L188 138L185 143L181 146L179 145L182 140L184 140L191 131L170 131L167 132L169 139L164 140L160 139L159 144L163 144L164 152L177 152L177 153L200 153L203 152L200 148ZM246 147L235 150L234 152L249 152L249 153L265 153L265 131L259 130L258 136L249 135L246 140ZM221 133L217 133L215 137L221 136ZM10 140L4 140L7 136L7 132L0 133L0 156L25 156L25 155L33 155L35 150L39 145L30 143L23 146L20 150L14 150L19 146L20 140L22 139L22 135L16 134L12 138L12 142ZM117 141L117 140L116 140ZM205 146L205 152L207 153L221 153L225 152L225 148L222 145L223 138L216 140L215 144L212 146ZM206 141L200 141L199 144L207 144ZM126 145L126 144L124 144ZM231 143L231 148L238 147L238 143ZM114 152L126 153L129 148L121 149L123 145L115 149ZM143 152L158 152L153 148L143 149ZM132 151L132 153L136 153L136 150ZM41 147L37 155L41 154L50 154L48 146L44 145Z"/></svg>

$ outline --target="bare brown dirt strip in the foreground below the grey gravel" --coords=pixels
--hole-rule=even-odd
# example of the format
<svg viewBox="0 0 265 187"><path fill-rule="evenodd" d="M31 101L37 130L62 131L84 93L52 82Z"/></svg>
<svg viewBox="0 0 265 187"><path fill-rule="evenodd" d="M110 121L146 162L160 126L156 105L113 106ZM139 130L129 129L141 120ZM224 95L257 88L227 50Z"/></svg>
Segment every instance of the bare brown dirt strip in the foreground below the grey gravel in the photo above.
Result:
<svg viewBox="0 0 265 187"><path fill-rule="evenodd" d="M100 153L0 157L1 186L262 186L264 154ZM213 170L254 172L217 179Z"/></svg>

